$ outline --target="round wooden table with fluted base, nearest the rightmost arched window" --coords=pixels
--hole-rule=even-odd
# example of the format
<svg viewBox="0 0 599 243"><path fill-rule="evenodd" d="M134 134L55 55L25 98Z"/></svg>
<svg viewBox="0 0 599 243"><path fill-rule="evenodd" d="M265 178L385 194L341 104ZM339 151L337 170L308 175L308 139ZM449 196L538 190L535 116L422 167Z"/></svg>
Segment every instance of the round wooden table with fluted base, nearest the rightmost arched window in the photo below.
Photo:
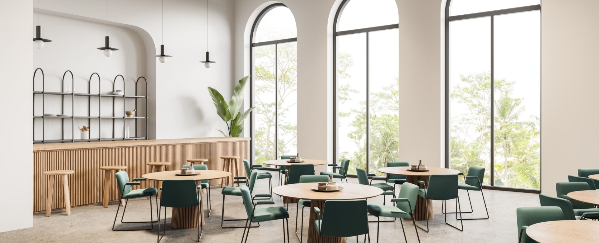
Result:
<svg viewBox="0 0 599 243"><path fill-rule="evenodd" d="M391 174L391 175L405 175L406 182L415 184L416 186L419 186L420 188L428 187L428 178L430 178L431 175L451 175L451 174L460 173L459 171L456 171L455 169L446 169L446 168L437 168L437 167L429 167L428 168L429 171L422 171L422 172L408 171L407 169L410 169L410 167L408 167L408 166L385 167L385 168L380 168L379 172L382 172L385 174ZM418 181L424 181L425 185L418 183ZM415 220L426 220L426 204L427 203L424 201L424 199L422 199L421 197L418 197L418 199L416 200L416 211L414 212ZM428 201L428 219L432 220L433 218L434 218L434 215L433 215L433 210L432 210L432 201L429 200Z"/></svg>

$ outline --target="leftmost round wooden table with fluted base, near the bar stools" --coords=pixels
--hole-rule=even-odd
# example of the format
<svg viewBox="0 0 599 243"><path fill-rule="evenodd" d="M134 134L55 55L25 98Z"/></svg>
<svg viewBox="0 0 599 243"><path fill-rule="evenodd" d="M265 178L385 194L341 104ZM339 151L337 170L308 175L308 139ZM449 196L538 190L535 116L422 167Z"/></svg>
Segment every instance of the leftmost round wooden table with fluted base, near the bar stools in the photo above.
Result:
<svg viewBox="0 0 599 243"><path fill-rule="evenodd" d="M199 181L214 180L231 176L231 172L226 171L201 170L199 175L190 176L175 175L176 172L180 171L153 172L145 174L142 177L151 181L195 180L196 184L199 185ZM204 200L204 195L202 194L201 199L202 201ZM199 214L202 219L202 225L204 225L204 203L200 203ZM177 229L191 229L198 227L198 208L196 206L189 206L187 208L173 208L173 215L171 217L171 227Z"/></svg>

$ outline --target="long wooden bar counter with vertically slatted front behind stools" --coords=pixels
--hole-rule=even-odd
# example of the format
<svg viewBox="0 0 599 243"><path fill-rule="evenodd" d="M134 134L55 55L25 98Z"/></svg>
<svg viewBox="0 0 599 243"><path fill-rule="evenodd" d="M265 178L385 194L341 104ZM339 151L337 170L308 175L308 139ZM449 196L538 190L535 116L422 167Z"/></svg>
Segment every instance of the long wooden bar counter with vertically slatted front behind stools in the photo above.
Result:
<svg viewBox="0 0 599 243"><path fill-rule="evenodd" d="M243 159L249 157L250 138L184 138L137 141L76 142L63 144L34 144L34 212L46 210L47 178L44 171L73 170L69 175L71 206L102 202L104 171L100 166L125 165L131 178L141 178L150 173L147 162L171 162L168 170L177 170L186 165L186 159L202 157L208 159L208 169L221 170L220 156L240 156L238 168L243 168ZM245 170L240 169L240 176ZM220 185L220 180L211 180L210 185ZM119 199L116 178L111 177L110 201ZM62 181L54 183L55 191L62 189ZM149 181L133 189L150 187ZM62 195L54 195L52 208L64 208Z"/></svg>

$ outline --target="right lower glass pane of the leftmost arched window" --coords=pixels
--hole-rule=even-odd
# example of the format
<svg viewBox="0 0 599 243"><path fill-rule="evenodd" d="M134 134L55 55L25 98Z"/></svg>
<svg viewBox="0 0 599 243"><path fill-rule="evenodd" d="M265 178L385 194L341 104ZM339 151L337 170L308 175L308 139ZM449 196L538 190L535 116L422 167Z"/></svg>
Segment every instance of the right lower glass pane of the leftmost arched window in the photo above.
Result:
<svg viewBox="0 0 599 243"><path fill-rule="evenodd" d="M297 42L277 45L279 156L297 153Z"/></svg>

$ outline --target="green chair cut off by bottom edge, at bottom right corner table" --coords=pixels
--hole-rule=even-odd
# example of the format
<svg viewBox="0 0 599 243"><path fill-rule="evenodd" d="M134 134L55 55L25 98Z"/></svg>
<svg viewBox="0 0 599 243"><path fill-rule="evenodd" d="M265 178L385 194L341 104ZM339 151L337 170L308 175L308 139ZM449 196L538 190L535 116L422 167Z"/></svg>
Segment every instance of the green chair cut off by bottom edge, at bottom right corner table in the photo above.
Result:
<svg viewBox="0 0 599 243"><path fill-rule="evenodd" d="M526 234L527 227L546 221L564 220L564 213L559 206L516 208L516 220L518 221L518 242L536 243Z"/></svg>

